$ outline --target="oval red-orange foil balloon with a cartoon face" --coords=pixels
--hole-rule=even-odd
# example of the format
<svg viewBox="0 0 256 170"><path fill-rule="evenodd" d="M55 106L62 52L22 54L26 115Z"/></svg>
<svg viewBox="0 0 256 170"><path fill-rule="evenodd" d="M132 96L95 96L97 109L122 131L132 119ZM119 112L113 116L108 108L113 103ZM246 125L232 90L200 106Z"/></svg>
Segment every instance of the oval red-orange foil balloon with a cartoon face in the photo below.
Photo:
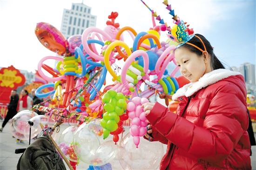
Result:
<svg viewBox="0 0 256 170"><path fill-rule="evenodd" d="M40 22L36 24L35 35L40 43L59 55L66 53L67 40L54 26Z"/></svg>

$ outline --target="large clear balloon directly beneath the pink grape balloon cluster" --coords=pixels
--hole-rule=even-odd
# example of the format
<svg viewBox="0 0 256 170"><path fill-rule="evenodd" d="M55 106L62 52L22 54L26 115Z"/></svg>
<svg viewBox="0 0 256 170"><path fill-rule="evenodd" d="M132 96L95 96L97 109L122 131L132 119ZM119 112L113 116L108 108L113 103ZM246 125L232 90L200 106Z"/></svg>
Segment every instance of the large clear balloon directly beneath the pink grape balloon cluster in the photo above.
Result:
<svg viewBox="0 0 256 170"><path fill-rule="evenodd" d="M120 142L118 157L124 170L159 169L163 157L163 144L149 142L140 137L139 148L136 148L133 137L128 133Z"/></svg>

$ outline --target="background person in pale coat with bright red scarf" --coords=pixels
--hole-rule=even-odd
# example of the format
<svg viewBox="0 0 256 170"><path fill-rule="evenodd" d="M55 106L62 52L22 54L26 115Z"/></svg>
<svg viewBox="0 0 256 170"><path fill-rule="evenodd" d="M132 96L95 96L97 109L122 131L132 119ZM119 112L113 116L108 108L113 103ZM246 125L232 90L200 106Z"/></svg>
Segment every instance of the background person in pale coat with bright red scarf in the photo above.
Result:
<svg viewBox="0 0 256 170"><path fill-rule="evenodd" d="M28 96L27 90L22 90L21 92L21 98L19 100L17 111L24 111L24 110L30 110L32 108L33 99ZM17 139L16 144L24 143L23 140Z"/></svg>

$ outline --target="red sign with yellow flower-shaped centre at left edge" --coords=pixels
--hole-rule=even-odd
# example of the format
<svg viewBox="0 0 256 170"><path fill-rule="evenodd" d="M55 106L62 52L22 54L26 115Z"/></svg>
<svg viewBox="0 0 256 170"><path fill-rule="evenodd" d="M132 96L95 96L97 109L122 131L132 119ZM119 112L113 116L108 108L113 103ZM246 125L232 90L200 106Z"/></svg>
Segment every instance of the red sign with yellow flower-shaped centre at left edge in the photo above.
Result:
<svg viewBox="0 0 256 170"><path fill-rule="evenodd" d="M11 65L0 70L0 103L9 103L12 90L24 85L26 78L19 70Z"/></svg>

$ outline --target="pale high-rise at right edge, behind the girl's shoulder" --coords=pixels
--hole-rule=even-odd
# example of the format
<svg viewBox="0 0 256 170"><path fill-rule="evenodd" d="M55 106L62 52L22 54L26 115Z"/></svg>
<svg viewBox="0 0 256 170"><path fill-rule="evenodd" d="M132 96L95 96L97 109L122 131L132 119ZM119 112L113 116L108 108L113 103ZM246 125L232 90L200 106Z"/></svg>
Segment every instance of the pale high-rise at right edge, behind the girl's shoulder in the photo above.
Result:
<svg viewBox="0 0 256 170"><path fill-rule="evenodd" d="M244 63L239 67L231 67L235 72L241 72L245 79L245 83L250 85L255 85L256 73L255 73L255 65L250 63Z"/></svg>

